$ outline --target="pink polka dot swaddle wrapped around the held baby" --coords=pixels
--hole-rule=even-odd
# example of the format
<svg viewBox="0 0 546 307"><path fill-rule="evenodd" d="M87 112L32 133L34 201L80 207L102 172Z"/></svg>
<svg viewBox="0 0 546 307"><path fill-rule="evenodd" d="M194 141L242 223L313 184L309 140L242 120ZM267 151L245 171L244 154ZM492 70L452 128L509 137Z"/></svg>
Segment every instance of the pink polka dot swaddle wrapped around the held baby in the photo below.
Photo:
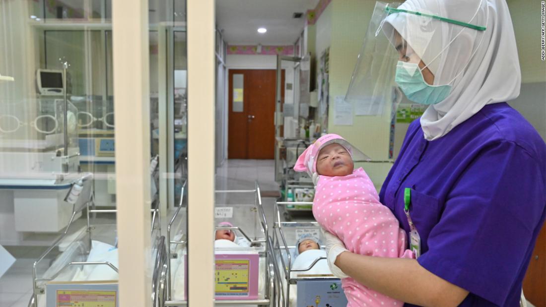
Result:
<svg viewBox="0 0 546 307"><path fill-rule="evenodd" d="M313 201L317 222L347 249L360 255L412 258L406 250L406 233L389 208L379 202L372 181L363 168L347 176L319 176ZM342 280L348 306L401 306L403 303L360 285Z"/></svg>

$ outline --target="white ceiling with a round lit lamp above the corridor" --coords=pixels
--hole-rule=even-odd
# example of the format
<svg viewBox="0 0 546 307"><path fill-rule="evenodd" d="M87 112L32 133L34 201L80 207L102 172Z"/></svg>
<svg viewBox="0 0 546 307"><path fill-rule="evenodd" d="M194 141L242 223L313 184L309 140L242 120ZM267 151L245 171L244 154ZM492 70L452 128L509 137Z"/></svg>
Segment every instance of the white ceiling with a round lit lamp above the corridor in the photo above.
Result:
<svg viewBox="0 0 546 307"><path fill-rule="evenodd" d="M305 12L319 0L216 0L216 25L230 45L292 45L305 26ZM304 15L294 19L292 14ZM258 33L264 27L268 32Z"/></svg>

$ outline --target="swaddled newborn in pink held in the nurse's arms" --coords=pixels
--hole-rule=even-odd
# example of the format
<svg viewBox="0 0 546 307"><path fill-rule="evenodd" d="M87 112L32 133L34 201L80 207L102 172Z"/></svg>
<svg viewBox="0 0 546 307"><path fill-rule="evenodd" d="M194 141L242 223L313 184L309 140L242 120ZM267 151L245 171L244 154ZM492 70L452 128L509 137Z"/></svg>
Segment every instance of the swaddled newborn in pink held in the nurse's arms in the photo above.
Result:
<svg viewBox="0 0 546 307"><path fill-rule="evenodd" d="M413 253L406 249L406 233L399 227L398 220L379 202L377 191L363 168L354 170L353 155L357 152L358 149L352 148L341 136L327 134L299 156L294 170L306 171L315 185L314 218L324 230L339 237L351 252L412 258ZM342 279L342 286L352 306L403 304L352 278Z"/></svg>

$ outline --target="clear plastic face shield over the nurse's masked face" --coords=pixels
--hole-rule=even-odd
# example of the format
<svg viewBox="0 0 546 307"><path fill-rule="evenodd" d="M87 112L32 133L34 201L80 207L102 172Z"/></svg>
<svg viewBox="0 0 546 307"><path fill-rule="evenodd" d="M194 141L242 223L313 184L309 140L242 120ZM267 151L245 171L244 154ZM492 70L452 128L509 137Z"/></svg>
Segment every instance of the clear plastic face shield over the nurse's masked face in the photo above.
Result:
<svg viewBox="0 0 546 307"><path fill-rule="evenodd" d="M463 1L464 12L449 14L460 20L434 13L444 4L416 11L411 2L377 2L345 100L383 109L400 100L396 87L415 103L446 99L482 41L477 25L487 23L483 0Z"/></svg>

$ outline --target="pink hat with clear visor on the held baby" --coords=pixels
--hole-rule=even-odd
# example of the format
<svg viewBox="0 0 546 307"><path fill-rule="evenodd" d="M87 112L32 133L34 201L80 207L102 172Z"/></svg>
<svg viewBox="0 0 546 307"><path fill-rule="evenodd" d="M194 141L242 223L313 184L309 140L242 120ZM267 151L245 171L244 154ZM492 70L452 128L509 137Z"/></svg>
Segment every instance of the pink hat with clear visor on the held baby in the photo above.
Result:
<svg viewBox="0 0 546 307"><path fill-rule="evenodd" d="M305 151L299 156L296 164L294 165L294 171L297 172L307 172L312 178L313 183L316 184L318 179L317 174L317 156L321 152L321 149L331 143L338 143L347 149L347 152L353 158L353 161L362 161L371 160L369 156L365 155L363 152L359 151L358 148L355 148L347 140L343 139L340 135L337 134L327 134L319 137L314 143L312 143Z"/></svg>

